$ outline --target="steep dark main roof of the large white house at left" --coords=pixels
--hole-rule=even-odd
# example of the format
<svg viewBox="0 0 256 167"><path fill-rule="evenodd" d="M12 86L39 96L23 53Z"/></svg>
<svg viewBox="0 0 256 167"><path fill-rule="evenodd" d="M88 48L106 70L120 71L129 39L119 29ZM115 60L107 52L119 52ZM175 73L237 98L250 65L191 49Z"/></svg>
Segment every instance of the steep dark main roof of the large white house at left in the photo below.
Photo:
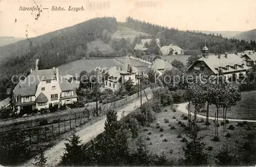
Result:
<svg viewBox="0 0 256 167"><path fill-rule="evenodd" d="M33 96L36 93L37 85L40 81L55 80L54 69L34 70L23 81L19 81L13 92L16 96Z"/></svg>

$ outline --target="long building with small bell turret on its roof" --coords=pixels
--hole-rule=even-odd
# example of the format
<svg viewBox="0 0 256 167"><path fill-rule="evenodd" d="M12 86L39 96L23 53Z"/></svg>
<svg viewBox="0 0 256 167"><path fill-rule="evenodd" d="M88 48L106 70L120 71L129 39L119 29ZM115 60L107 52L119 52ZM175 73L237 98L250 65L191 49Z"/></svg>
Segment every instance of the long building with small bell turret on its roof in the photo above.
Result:
<svg viewBox="0 0 256 167"><path fill-rule="evenodd" d="M246 75L249 69L245 61L236 54L225 55L208 55L208 48L205 46L202 49L202 57L188 67L189 70L195 70L199 73L207 71L213 75L224 75L226 79L235 75L237 78Z"/></svg>

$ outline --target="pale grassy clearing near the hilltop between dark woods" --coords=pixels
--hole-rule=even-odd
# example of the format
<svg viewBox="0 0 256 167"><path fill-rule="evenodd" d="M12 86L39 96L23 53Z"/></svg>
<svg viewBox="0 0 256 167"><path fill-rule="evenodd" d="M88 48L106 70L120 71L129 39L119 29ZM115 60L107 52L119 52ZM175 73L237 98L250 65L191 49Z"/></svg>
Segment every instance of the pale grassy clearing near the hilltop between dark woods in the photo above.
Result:
<svg viewBox="0 0 256 167"><path fill-rule="evenodd" d="M124 26L118 26L117 27L117 32L112 35L112 38L130 38L131 42L133 42L134 38L136 35L142 35L142 36L151 36L150 34L143 33L143 32L138 32L133 29L124 27Z"/></svg>

